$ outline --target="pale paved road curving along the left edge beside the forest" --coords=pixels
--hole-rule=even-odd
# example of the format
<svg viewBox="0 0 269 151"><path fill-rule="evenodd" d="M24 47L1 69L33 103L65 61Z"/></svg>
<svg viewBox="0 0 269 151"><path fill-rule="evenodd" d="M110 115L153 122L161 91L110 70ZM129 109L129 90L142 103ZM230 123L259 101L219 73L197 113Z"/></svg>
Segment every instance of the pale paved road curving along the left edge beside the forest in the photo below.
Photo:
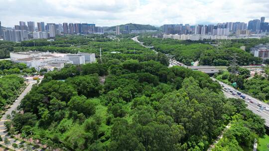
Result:
<svg viewBox="0 0 269 151"><path fill-rule="evenodd" d="M41 80L42 80L42 78L41 78ZM41 80L40 80L40 82L41 82ZM8 121L8 120L6 119L6 115L11 114L11 112L12 112L13 110L15 110L15 111L17 110L17 106L20 104L20 101L21 101L21 100L23 99L23 97L24 97L24 96L31 90L33 84L35 84L35 83L36 83L36 80L29 80L29 81L28 81L28 85L27 85L27 87L26 87L26 88L24 89L24 91L19 95L19 97L17 98L17 102L14 102L14 103L11 105L11 107L5 112L5 114L2 116L2 118L0 119L0 135L1 135L2 140L4 140L5 137L8 138L8 140L10 141L10 144L9 144L7 147L10 148L10 149L13 149L13 147L12 147L12 144L13 144L13 143L18 144L18 146L19 146L20 144L23 144L25 148L26 148L27 145L26 145L25 143L21 143L21 142L19 142L19 141L16 141L16 140L10 138L10 137L7 135L7 132L5 131L5 126L4 126L4 122L5 122L5 121ZM0 144L3 145L3 146L5 146L5 144L4 144L3 141L0 142ZM35 150L35 149L32 148L32 150ZM17 149L17 151L19 151L19 150ZM22 150L21 150L21 151L22 151ZM26 150L23 150L23 151L26 151ZM41 151L41 150L40 150L40 149L36 149L36 151Z"/></svg>

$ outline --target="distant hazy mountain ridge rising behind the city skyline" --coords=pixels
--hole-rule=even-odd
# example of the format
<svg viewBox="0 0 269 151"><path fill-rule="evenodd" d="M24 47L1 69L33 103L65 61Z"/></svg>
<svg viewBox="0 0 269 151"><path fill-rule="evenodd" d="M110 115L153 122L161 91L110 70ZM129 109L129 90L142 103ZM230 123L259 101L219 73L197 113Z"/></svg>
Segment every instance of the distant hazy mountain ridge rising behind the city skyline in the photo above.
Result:
<svg viewBox="0 0 269 151"><path fill-rule="evenodd" d="M152 25L142 25L142 24L133 24L133 23L128 23L125 25L129 25L130 31L131 30L158 30L159 29L158 27L154 27ZM118 26L120 26L121 30L124 30L125 25L118 25ZM116 26L107 27L107 28L104 27L104 28L106 31L109 31L109 30L116 31Z"/></svg>

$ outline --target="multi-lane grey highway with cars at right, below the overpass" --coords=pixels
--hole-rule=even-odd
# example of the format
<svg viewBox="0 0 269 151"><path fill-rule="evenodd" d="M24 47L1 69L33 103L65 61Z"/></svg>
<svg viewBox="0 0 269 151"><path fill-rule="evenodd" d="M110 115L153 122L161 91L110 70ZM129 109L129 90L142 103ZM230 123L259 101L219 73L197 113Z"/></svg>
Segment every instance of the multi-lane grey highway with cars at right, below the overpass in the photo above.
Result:
<svg viewBox="0 0 269 151"><path fill-rule="evenodd" d="M230 85L228 85L228 84L226 84L226 83L224 83L224 82L222 82L222 81L219 81L219 80L217 80L216 78L213 78L213 77L211 77L211 78L212 78L213 80L215 80L215 81L218 81L220 84L224 85L224 88L230 88L230 89L235 93L235 95L232 95L232 92L230 92L229 90L226 91L226 90L223 89L223 93L225 94L226 97L228 97L228 98L241 98L239 95L236 94L236 92L240 92L239 90L236 90L236 89L233 88L232 86L230 86ZM242 92L241 92L241 93L242 93ZM243 99L243 100L245 100L246 104L248 105L247 108L250 109L253 113L255 113L255 114L257 114L257 115L260 115L263 119L265 119L265 120L266 120L265 125L266 125L267 127L269 127L269 111L266 111L266 110L264 109L264 110L262 110L261 112L259 112L258 110L260 109L260 107L258 106L258 103L261 103L262 106L267 107L267 108L269 108L269 105L266 104L266 103L263 102L263 101L260 101L260 100L258 100L258 99L256 99L256 98L254 98L254 97L248 95L248 94L242 93L241 95L246 96L246 98ZM247 98L250 98L250 99L253 101L253 103L249 102L249 100L248 100ZM241 98L241 99L242 99L242 98Z"/></svg>

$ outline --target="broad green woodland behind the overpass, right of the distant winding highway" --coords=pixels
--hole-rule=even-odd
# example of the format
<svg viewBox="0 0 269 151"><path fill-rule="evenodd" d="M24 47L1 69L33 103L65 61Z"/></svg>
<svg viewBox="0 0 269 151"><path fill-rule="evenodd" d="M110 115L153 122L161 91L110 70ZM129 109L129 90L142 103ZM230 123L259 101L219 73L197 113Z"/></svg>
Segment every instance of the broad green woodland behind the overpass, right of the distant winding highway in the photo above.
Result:
<svg viewBox="0 0 269 151"><path fill-rule="evenodd" d="M155 50L165 54L175 55L177 61L186 65L191 65L191 62L200 61L200 65L210 66L229 66L236 54L239 65L261 64L262 60L254 57L250 53L239 49L243 44L238 44L236 41L223 41L214 48L205 43L208 41L179 41L173 39L159 39L159 38L139 38L145 45L153 45ZM261 42L269 42L269 38L263 40L246 40L248 45L254 47ZM216 43L215 41L211 41ZM240 40L244 42L244 40ZM250 49L250 48L249 48Z"/></svg>

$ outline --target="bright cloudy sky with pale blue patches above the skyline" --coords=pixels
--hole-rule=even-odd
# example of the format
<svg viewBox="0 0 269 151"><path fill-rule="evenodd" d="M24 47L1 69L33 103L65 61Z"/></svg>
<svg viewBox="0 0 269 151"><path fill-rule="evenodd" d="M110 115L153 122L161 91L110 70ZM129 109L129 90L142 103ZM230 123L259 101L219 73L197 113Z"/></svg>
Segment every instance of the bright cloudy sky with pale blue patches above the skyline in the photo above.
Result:
<svg viewBox="0 0 269 151"><path fill-rule="evenodd" d="M269 0L0 0L2 26L19 21L45 23L218 23L266 17Z"/></svg>

